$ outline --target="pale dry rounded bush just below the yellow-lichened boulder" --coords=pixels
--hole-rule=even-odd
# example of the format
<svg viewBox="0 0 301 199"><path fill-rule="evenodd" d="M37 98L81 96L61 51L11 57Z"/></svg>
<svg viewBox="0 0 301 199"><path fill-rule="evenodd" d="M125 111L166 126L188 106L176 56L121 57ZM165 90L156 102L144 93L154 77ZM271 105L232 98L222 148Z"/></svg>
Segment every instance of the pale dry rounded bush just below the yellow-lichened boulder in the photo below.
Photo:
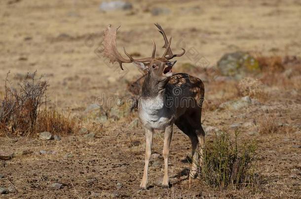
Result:
<svg viewBox="0 0 301 199"><path fill-rule="evenodd" d="M244 78L238 83L238 91L242 96L265 98L263 83L254 78Z"/></svg>

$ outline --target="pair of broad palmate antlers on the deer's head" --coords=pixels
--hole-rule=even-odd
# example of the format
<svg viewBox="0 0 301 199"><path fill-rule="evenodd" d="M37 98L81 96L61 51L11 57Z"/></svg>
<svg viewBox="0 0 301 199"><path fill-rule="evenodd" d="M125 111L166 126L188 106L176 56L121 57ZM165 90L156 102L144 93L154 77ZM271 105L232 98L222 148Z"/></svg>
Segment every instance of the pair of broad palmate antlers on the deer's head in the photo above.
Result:
<svg viewBox="0 0 301 199"><path fill-rule="evenodd" d="M163 48L165 48L165 52L164 52L162 57L165 57L167 59L171 59L173 57L183 56L184 53L185 53L185 49L183 49L183 48L182 48L183 49L182 54L173 55L173 53L170 49L171 38L169 39L169 41L167 41L167 37L165 35L165 32L164 32L163 28L159 24L155 24L155 26L157 28L159 28L159 32L163 35L163 38L164 38L164 41L165 41L165 44L163 46ZM120 26L118 28L120 28ZM112 29L111 24L110 24L109 26L107 26L107 28L104 31L104 38L103 38L104 49L102 50L102 52L103 52L103 56L109 58L111 63L118 62L120 68L123 70L122 63L131 63L133 61L151 62L151 60L155 58L156 45L155 45L153 40L151 40L152 45L153 45L151 57L141 58L141 59L134 59L129 53L127 53L125 51L125 48L123 47L123 51L124 51L125 55L127 57L129 57L129 59L123 58L120 55L120 53L118 52L117 47L116 47L116 33L117 33L118 28ZM169 57L166 57L166 54Z"/></svg>

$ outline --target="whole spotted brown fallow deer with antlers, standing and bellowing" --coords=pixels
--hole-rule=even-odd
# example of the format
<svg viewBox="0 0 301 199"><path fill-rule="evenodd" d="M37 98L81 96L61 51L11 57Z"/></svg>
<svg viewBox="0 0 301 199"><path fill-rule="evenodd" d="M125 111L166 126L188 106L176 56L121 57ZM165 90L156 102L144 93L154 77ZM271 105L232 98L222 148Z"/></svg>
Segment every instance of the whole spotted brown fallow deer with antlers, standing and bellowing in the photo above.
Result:
<svg viewBox="0 0 301 199"><path fill-rule="evenodd" d="M201 110L204 99L204 85L196 77L185 73L172 73L172 67L176 60L174 57L181 57L185 54L173 54L170 48L171 38L168 40L163 28L155 24L163 35L165 52L162 57L155 57L156 45L152 41L153 49L151 57L135 59L123 48L123 58L116 48L116 33L118 28L111 28L109 25L104 31L103 56L110 59L110 62L118 62L120 68L122 63L134 63L140 69L145 70L145 77L142 92L138 103L138 114L140 121L145 128L145 166L140 188L146 189L148 183L148 169L151 158L151 143L154 130L165 130L163 158L164 176L163 187L169 187L168 177L168 156L170 142L173 132L173 124L188 135L192 144L192 165L189 177L195 177L198 164L202 163L202 149L205 142L205 132L201 125ZM201 155L201 158L198 155Z"/></svg>

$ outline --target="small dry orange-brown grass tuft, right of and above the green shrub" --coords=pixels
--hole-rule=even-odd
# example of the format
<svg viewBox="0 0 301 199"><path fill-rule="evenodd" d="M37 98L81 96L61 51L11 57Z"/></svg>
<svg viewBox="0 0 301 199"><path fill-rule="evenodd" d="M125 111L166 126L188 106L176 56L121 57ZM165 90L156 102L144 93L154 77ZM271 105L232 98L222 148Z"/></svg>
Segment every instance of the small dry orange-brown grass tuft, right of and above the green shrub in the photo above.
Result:
<svg viewBox="0 0 301 199"><path fill-rule="evenodd" d="M273 134L279 130L279 126L276 122L275 117L267 114L263 115L258 120L258 126L259 126L258 131L260 134Z"/></svg>

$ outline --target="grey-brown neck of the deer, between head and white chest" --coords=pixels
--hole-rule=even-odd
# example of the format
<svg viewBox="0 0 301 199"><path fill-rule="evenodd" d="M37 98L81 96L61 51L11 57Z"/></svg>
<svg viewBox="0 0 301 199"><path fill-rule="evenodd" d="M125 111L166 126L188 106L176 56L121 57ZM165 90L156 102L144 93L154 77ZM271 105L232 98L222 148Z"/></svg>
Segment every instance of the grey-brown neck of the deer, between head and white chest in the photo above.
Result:
<svg viewBox="0 0 301 199"><path fill-rule="evenodd" d="M151 74L147 74L144 83L142 85L141 97L145 98L157 98L164 97L166 85L168 80L158 81L151 77Z"/></svg>

